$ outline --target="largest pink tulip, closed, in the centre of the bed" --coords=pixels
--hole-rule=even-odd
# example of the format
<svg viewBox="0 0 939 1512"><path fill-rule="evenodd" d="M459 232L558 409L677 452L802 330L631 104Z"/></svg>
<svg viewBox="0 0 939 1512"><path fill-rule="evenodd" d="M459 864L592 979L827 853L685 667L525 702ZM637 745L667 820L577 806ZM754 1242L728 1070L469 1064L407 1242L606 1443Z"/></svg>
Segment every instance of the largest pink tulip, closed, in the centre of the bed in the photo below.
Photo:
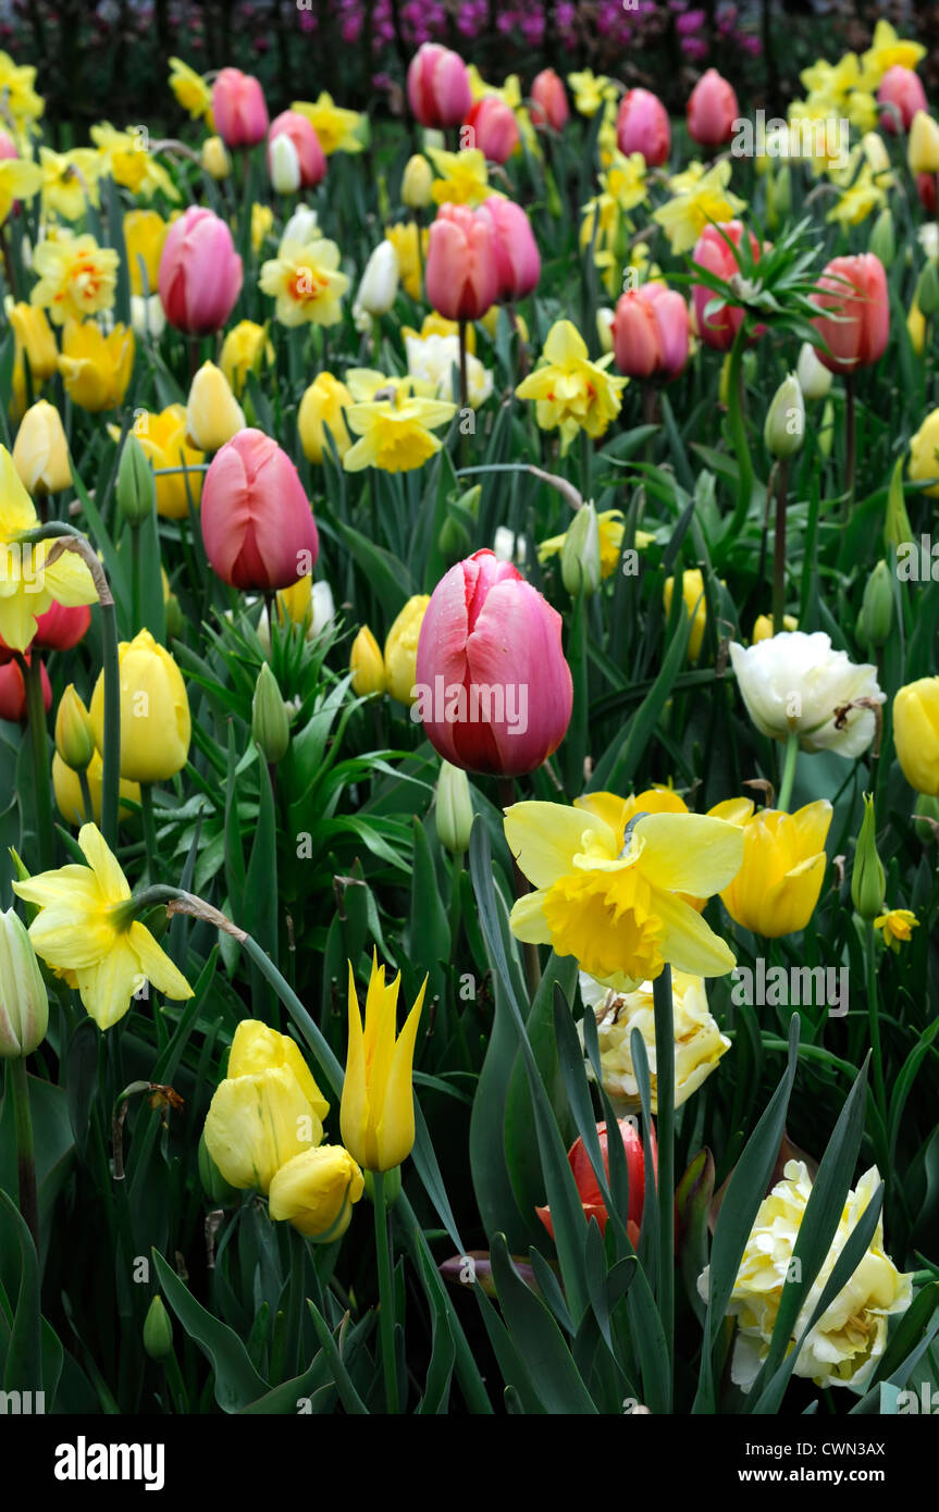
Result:
<svg viewBox="0 0 939 1512"><path fill-rule="evenodd" d="M454 767L534 771L564 739L573 708L561 615L511 562L475 552L434 588L416 686L411 718Z"/></svg>

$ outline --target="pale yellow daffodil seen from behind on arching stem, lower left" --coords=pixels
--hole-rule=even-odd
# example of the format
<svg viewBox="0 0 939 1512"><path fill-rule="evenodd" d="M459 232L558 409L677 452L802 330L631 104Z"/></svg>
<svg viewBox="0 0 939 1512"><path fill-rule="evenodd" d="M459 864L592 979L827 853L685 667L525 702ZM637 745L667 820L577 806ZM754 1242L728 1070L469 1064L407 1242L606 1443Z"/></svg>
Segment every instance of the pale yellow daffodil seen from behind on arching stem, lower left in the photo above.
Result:
<svg viewBox="0 0 939 1512"><path fill-rule="evenodd" d="M14 883L39 909L29 927L36 954L79 989L101 1030L124 1018L145 981L175 1001L191 998L183 974L135 919L127 878L95 824L82 826L79 847L86 866L71 862Z"/></svg>

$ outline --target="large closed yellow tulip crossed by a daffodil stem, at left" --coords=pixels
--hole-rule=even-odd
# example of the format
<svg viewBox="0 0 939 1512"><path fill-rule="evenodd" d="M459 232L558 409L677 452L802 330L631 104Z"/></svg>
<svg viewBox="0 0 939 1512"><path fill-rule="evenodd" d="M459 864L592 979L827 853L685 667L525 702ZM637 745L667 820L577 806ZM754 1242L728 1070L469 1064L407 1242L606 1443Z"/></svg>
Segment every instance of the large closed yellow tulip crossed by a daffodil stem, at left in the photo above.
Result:
<svg viewBox="0 0 939 1512"><path fill-rule="evenodd" d="M186 765L192 733L180 668L150 631L118 646L121 670L121 777L166 782ZM91 697L95 744L104 750L104 673Z"/></svg>

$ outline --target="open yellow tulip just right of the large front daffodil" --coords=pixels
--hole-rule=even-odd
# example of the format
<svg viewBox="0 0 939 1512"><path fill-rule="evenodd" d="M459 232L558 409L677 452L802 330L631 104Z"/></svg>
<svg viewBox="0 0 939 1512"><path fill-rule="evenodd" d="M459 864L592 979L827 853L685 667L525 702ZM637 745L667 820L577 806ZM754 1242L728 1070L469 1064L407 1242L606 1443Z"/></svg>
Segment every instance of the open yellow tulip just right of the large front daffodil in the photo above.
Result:
<svg viewBox="0 0 939 1512"><path fill-rule="evenodd" d="M744 801L752 810L750 800ZM742 820L739 809L741 800L732 798L712 810L717 818L742 824L744 832L744 860L721 901L730 918L753 934L795 934L812 918L821 892L832 804L820 798L797 813L761 809Z"/></svg>

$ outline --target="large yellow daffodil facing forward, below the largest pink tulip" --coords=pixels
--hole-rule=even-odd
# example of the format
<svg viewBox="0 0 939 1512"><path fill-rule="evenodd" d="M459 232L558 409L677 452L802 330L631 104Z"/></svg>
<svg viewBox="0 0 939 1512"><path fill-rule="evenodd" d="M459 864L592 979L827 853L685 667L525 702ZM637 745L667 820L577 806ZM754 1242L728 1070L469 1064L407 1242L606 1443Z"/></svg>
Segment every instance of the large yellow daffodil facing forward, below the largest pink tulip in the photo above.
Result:
<svg viewBox="0 0 939 1512"><path fill-rule="evenodd" d="M517 939L573 956L605 986L634 990L665 963L696 977L733 966L727 945L679 894L711 897L739 871L736 824L699 813L647 813L623 836L585 807L516 803L505 838L535 888L513 906Z"/></svg>

